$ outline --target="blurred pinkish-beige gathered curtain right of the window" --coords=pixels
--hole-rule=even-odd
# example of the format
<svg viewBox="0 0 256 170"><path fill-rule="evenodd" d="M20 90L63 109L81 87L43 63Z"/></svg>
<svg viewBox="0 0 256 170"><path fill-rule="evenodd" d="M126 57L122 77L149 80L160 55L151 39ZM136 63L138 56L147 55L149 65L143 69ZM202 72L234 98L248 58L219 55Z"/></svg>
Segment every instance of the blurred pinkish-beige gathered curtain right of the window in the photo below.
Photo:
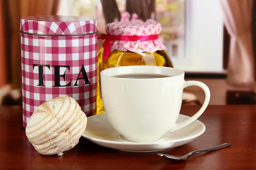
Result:
<svg viewBox="0 0 256 170"><path fill-rule="evenodd" d="M254 53L252 48L253 0L220 0L224 24L230 35L227 82L254 91Z"/></svg>

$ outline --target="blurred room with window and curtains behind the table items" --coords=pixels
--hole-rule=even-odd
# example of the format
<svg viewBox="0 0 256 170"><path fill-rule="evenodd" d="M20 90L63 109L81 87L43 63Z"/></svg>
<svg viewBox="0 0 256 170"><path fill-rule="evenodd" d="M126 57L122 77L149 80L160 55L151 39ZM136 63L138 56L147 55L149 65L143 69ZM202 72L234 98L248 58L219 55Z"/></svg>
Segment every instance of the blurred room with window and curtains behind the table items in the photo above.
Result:
<svg viewBox="0 0 256 170"><path fill-rule="evenodd" d="M0 105L22 104L20 17L34 15L97 18L98 35L110 22L160 22L174 66L186 80L209 86L210 104L256 104L255 6L255 0L1 0ZM203 102L199 88L185 91L188 104Z"/></svg>

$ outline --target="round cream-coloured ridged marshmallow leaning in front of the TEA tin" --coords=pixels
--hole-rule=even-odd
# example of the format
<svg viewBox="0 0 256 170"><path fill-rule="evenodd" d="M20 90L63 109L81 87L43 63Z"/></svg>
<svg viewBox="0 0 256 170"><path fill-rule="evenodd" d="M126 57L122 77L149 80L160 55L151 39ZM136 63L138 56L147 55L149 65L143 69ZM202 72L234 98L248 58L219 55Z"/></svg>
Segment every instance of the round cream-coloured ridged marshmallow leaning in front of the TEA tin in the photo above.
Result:
<svg viewBox="0 0 256 170"><path fill-rule="evenodd" d="M72 97L57 97L41 104L31 115L26 135L43 155L63 155L79 142L87 117Z"/></svg>

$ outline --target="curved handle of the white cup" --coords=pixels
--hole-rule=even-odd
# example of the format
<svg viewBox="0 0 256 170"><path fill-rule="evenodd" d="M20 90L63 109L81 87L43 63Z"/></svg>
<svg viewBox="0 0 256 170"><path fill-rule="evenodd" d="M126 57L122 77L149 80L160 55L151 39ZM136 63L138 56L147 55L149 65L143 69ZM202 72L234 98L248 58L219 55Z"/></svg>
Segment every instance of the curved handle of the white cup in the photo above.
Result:
<svg viewBox="0 0 256 170"><path fill-rule="evenodd" d="M184 81L183 88L186 88L188 86L198 86L198 87L200 87L204 90L204 94L205 94L204 103L203 103L202 107L198 110L198 112L195 113L195 115L193 115L189 119L186 119L182 122L179 122L179 123L175 124L173 126L173 128L171 129L171 132L175 131L175 130L178 130L180 128L183 128L184 126L189 125L193 121L198 119L198 117L200 117L202 115L202 113L204 113L204 110L207 108L207 106L210 102L211 93L210 93L210 90L209 90L209 88L206 84L204 84L203 82L195 81L195 80Z"/></svg>

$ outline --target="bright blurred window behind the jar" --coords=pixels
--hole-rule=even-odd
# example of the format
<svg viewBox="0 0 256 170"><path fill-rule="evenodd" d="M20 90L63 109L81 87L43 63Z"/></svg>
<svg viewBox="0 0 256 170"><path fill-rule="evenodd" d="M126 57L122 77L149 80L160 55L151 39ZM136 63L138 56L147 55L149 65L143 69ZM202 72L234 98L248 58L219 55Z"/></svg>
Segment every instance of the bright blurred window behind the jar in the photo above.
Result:
<svg viewBox="0 0 256 170"><path fill-rule="evenodd" d="M126 11L126 1L128 2L128 0L112 1L117 4L117 11L120 14ZM176 68L186 72L224 72L223 13L218 0L151 0L150 2L155 2L155 10L150 17L162 24L160 39L167 47ZM101 0L62 0L60 3L58 15L97 18L99 34L105 32L106 20L103 16L104 7Z"/></svg>

